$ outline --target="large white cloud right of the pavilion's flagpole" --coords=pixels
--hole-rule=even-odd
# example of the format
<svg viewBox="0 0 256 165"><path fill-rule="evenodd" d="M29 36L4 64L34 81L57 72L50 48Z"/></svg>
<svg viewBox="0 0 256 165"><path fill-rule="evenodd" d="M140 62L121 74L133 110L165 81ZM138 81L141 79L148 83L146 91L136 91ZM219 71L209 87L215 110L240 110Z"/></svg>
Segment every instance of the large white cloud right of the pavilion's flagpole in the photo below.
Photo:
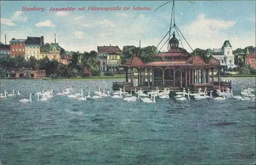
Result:
<svg viewBox="0 0 256 165"><path fill-rule="evenodd" d="M179 29L193 49L220 48L225 40L230 39L228 32L235 24L236 21L207 18L204 14L199 14L197 20ZM180 39L187 50L191 51L186 41L182 37Z"/></svg>

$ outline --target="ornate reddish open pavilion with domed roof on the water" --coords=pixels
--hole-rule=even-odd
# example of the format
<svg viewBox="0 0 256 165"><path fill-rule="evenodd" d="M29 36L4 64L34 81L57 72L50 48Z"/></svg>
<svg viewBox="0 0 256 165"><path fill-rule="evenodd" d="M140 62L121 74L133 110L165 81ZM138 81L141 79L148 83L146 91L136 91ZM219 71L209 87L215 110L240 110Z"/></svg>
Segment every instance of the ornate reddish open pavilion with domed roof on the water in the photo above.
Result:
<svg viewBox="0 0 256 165"><path fill-rule="evenodd" d="M113 90L125 87L126 90L142 88L155 90L165 87L170 90L189 88L191 91L198 88L216 90L222 87L231 88L231 82L220 80L220 70L224 68L220 61L210 56L204 61L200 56L191 56L185 49L179 47L179 40L173 33L169 40L169 51L155 55L155 60L149 63L134 56L125 64L126 81L113 82ZM217 75L214 74L217 70ZM135 74L136 73L136 74Z"/></svg>

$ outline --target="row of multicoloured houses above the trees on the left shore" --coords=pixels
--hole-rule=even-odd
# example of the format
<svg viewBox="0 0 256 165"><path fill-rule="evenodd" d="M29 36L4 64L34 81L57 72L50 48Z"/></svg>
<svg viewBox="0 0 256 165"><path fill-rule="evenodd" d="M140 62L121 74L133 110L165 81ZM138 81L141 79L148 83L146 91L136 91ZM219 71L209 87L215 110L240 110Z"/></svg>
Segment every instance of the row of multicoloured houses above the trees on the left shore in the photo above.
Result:
<svg viewBox="0 0 256 165"><path fill-rule="evenodd" d="M27 37L27 39L12 38L10 44L1 44L0 57L4 56L23 56L26 60L30 57L41 59L48 57L49 59L57 60L64 64L68 64L71 60L70 56L61 55L60 46L58 43L44 43L44 36L41 37Z"/></svg>

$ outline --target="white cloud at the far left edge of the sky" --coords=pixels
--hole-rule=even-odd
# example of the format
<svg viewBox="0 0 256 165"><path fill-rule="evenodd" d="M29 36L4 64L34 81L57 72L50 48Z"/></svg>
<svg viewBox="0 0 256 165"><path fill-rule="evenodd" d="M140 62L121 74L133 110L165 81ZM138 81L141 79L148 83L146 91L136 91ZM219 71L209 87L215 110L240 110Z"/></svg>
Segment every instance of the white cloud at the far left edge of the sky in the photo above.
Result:
<svg viewBox="0 0 256 165"><path fill-rule="evenodd" d="M26 22L26 21L28 21L28 17L24 16L22 11L16 11L10 19L1 18L1 24L3 23L4 25L7 25L7 26L16 26L14 22Z"/></svg>

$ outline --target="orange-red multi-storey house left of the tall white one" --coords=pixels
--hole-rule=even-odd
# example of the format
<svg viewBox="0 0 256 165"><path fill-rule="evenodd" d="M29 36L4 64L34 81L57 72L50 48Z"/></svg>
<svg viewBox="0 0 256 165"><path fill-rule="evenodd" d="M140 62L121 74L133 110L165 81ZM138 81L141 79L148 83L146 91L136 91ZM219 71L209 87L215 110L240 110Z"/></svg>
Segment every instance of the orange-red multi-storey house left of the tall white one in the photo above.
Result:
<svg viewBox="0 0 256 165"><path fill-rule="evenodd" d="M25 39L15 39L10 41L11 57L23 56L25 58Z"/></svg>

